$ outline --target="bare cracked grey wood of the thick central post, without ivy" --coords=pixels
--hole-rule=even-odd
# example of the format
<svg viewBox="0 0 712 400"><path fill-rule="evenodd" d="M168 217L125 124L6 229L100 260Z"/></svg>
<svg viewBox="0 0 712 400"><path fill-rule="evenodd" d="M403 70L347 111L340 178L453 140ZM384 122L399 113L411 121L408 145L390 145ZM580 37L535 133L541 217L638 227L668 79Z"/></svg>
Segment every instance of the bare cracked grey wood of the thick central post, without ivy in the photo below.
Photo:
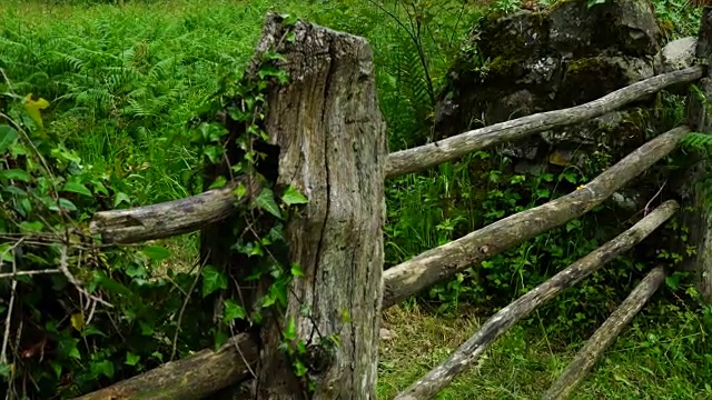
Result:
<svg viewBox="0 0 712 400"><path fill-rule="evenodd" d="M304 276L289 283L286 312L259 324L251 397L375 399L387 141L372 50L362 38L269 14L247 77L267 51L284 56L276 66L289 79L270 83L265 100L267 142L279 149L276 187L295 188L308 203L285 226L289 261ZM212 239L233 234L225 226L211 229ZM211 241L204 250L220 250ZM245 272L246 264L229 259L214 254L211 262ZM265 286L248 297L265 294ZM280 348L287 324L296 330L293 341L305 344L310 387ZM325 350L320 343L330 338L337 344Z"/></svg>

